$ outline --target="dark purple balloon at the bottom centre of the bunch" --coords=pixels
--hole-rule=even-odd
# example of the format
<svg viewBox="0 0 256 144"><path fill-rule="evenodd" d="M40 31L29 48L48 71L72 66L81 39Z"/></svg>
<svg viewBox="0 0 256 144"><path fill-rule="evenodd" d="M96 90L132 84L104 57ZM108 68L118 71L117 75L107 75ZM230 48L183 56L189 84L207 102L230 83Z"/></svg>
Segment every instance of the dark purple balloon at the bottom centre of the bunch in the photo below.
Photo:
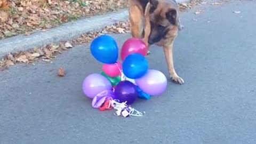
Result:
<svg viewBox="0 0 256 144"><path fill-rule="evenodd" d="M137 87L130 81L119 82L114 94L120 102L127 101L127 105L131 105L138 97Z"/></svg>

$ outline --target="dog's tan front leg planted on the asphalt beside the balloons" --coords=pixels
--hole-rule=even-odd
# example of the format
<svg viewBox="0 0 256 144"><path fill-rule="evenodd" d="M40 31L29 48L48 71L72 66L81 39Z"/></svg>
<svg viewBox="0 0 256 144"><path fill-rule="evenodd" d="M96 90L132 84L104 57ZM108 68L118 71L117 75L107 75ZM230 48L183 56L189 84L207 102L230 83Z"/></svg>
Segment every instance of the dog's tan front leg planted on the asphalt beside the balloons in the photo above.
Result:
<svg viewBox="0 0 256 144"><path fill-rule="evenodd" d="M166 62L167 62L170 77L173 79L173 81L175 81L179 84L183 84L184 83L183 79L177 75L177 73L174 69L174 64L173 64L173 41L172 41L171 44L164 46L163 49L164 49L164 55L165 55L165 59L166 59Z"/></svg>

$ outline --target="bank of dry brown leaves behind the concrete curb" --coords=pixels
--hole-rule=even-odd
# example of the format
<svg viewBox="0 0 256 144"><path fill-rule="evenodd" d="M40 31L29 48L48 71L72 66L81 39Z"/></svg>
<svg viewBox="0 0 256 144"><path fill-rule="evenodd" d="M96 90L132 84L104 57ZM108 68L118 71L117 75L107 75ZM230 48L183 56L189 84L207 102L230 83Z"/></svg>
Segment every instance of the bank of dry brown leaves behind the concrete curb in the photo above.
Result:
<svg viewBox="0 0 256 144"><path fill-rule="evenodd" d="M126 7L125 0L0 0L0 39Z"/></svg>

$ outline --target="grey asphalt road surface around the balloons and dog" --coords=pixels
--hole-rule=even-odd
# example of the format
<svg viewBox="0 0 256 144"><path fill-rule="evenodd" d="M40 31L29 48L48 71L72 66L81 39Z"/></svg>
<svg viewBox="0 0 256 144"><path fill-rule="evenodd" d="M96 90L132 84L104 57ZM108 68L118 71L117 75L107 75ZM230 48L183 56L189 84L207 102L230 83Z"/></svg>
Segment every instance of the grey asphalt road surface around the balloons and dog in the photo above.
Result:
<svg viewBox="0 0 256 144"><path fill-rule="evenodd" d="M143 117L91 107L82 82L102 65L87 45L52 63L2 71L0 143L255 144L255 7L253 1L232 1L182 13L185 29L175 41L174 62L185 84L169 82L163 95L135 102L134 108L146 111ZM205 11L196 15L197 9ZM114 37L121 46L130 35ZM167 76L161 48L153 46L147 58L150 68ZM59 67L65 77L57 77Z"/></svg>

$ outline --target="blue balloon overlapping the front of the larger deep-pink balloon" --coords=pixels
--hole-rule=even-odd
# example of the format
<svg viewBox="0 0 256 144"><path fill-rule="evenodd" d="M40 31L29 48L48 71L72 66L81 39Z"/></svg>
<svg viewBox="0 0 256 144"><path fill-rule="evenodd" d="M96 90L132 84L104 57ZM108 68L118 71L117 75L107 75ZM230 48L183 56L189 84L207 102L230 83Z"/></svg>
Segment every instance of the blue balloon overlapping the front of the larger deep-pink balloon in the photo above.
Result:
<svg viewBox="0 0 256 144"><path fill-rule="evenodd" d="M131 79L140 78L148 71L148 61L140 53L129 54L123 61L123 73Z"/></svg>

